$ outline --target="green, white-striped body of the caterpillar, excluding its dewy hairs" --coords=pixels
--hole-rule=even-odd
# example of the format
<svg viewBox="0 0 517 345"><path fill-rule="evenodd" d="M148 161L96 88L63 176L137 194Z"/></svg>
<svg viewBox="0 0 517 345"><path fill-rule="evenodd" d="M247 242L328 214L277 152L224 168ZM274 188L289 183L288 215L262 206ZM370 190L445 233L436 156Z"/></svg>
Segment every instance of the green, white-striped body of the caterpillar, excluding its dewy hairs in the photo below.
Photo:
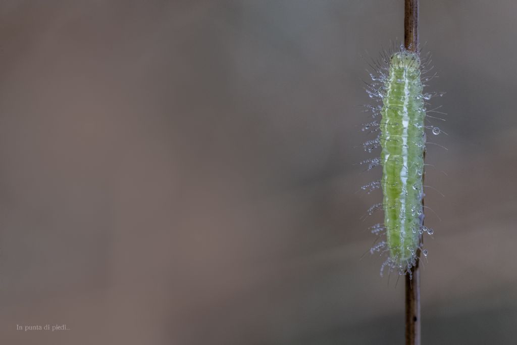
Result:
<svg viewBox="0 0 517 345"><path fill-rule="evenodd" d="M402 266L413 264L423 219L422 88L420 58L407 51L393 54L381 110L380 142L387 246L391 259Z"/></svg>

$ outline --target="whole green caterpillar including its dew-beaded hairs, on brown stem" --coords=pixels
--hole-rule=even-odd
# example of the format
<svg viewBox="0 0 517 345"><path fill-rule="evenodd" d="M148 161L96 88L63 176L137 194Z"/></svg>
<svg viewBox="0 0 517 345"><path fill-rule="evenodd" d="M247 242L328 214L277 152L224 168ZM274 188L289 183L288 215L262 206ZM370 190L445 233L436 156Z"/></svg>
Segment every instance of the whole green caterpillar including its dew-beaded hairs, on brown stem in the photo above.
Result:
<svg viewBox="0 0 517 345"><path fill-rule="evenodd" d="M365 142L364 149L372 152L381 147L379 158L364 160L368 170L381 166L381 181L363 186L368 192L383 191L383 202L368 210L384 210L384 223L375 224L370 230L385 240L378 242L370 252L388 253L388 259L381 266L390 271L397 269L400 274L409 272L415 265L417 250L424 256L427 250L421 247L421 234L433 233L423 226L423 171L425 151L425 104L435 94L423 94L422 70L419 52L401 47L400 51L384 53L380 61L372 66L377 74L370 74L373 82L367 85L369 96L381 104L366 106L373 117L381 117L363 125L363 131L379 132L374 140ZM424 81L431 79L427 77ZM431 127L438 134L438 127Z"/></svg>

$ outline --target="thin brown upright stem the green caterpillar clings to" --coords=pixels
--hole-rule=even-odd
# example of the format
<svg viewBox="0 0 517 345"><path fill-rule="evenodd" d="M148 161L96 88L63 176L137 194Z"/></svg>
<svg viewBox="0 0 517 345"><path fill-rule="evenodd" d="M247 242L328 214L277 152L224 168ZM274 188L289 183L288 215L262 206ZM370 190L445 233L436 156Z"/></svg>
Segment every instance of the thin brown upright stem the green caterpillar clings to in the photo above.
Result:
<svg viewBox="0 0 517 345"><path fill-rule="evenodd" d="M404 46L407 50L418 49L419 0L405 0L404 6ZM425 152L424 152L425 159ZM425 175L424 175L425 176ZM423 178L422 178L423 179ZM422 181L423 182L423 181ZM422 183L423 185L423 183ZM422 198L423 205L423 198ZM422 225L423 225L423 217ZM420 236L420 247L422 236ZM406 345L420 345L420 249L417 249L416 264L411 274L406 274Z"/></svg>

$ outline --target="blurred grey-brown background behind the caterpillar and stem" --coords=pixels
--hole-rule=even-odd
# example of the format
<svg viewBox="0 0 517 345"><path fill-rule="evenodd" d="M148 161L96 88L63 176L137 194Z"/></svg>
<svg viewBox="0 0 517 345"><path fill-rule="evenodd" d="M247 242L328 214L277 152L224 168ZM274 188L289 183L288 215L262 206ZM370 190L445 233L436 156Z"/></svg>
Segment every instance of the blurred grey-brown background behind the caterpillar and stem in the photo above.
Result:
<svg viewBox="0 0 517 345"><path fill-rule="evenodd" d="M449 134L423 342L514 343L517 4L420 15ZM402 343L403 284L361 259L381 171L353 165L361 55L402 29L401 0L3 1L1 342Z"/></svg>

